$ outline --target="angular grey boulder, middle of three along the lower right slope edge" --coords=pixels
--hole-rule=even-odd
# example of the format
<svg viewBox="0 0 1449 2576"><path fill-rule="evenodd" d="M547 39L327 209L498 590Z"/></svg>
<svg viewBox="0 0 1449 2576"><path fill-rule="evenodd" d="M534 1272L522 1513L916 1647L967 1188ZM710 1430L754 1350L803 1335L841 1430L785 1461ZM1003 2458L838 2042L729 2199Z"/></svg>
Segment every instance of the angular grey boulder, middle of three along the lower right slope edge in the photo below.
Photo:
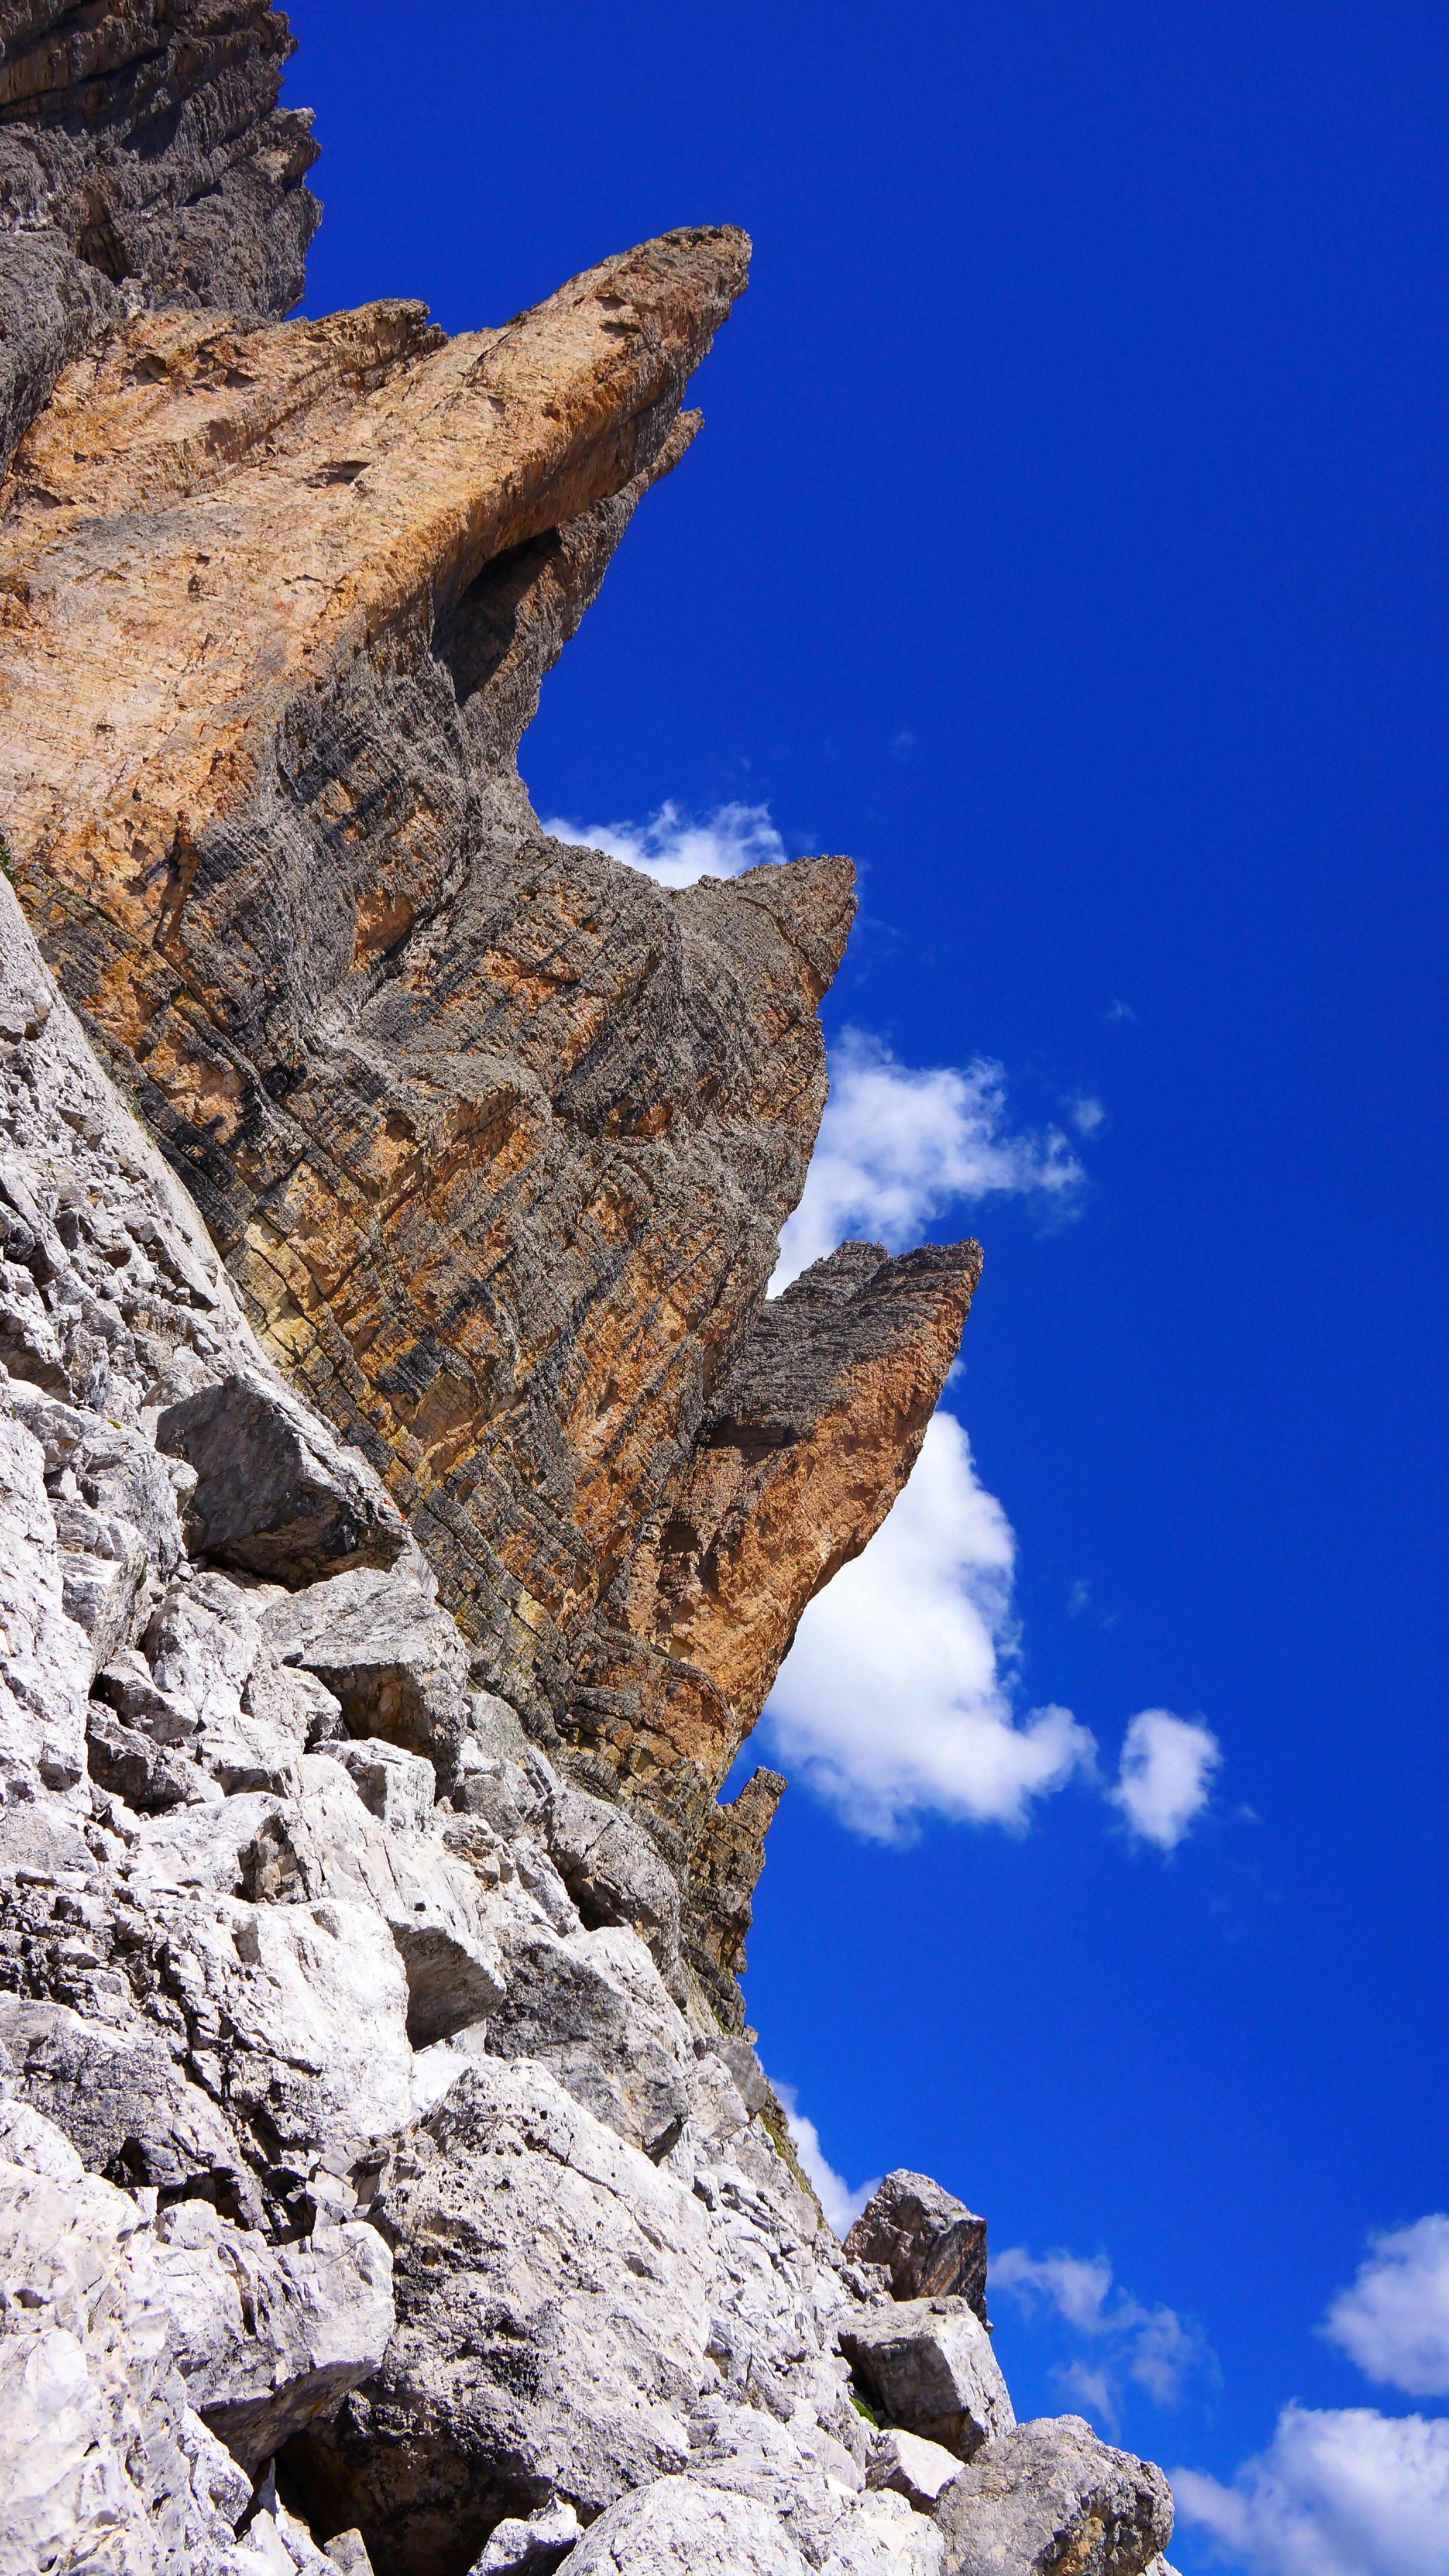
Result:
<svg viewBox="0 0 1449 2576"><path fill-rule="evenodd" d="M852 2316L839 2349L893 2424L957 2460L1017 2421L991 2336L965 2298L911 2298Z"/></svg>

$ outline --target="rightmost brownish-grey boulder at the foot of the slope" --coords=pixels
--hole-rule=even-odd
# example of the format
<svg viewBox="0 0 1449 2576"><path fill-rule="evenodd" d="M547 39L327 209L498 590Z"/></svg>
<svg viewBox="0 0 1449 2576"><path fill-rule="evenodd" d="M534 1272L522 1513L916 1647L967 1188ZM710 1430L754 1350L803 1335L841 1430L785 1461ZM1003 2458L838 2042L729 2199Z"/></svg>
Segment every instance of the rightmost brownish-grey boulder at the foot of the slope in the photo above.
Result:
<svg viewBox="0 0 1449 2576"><path fill-rule="evenodd" d="M1171 2540L1161 2468L1102 2442L1084 2416L1017 2424L937 2496L945 2576L1143 2576Z"/></svg>

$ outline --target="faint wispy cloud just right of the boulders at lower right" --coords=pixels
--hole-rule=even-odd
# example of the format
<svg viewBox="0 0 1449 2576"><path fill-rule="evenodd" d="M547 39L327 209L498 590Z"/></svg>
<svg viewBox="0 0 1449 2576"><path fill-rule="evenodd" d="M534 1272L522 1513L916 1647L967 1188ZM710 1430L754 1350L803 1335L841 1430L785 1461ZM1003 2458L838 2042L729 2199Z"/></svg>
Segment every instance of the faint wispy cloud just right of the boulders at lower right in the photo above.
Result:
<svg viewBox="0 0 1449 2576"><path fill-rule="evenodd" d="M1194 2375L1215 2375L1217 2365L1197 2326L1176 2308L1145 2308L1130 2290L1112 2287L1104 2254L1029 2254L1006 2246L991 2262L991 2290L1014 2300L1022 2316L1042 2311L1068 2329L1068 2342L1084 2344L1055 2365L1060 2385L1114 2429L1122 2383L1145 2388L1158 2406L1176 2406Z"/></svg>

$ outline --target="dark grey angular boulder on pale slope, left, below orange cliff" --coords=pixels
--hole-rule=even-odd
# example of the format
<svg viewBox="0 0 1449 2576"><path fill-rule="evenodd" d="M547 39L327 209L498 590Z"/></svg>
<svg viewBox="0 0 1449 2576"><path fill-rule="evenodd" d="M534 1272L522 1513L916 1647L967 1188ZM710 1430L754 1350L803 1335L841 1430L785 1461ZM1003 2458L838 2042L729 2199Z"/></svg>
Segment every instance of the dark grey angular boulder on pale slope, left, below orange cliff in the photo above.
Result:
<svg viewBox="0 0 1449 2576"><path fill-rule="evenodd" d="M167 1404L157 1448L196 1471L188 1546L203 1561L296 1589L409 1551L407 1522L365 1458L260 1376Z"/></svg>

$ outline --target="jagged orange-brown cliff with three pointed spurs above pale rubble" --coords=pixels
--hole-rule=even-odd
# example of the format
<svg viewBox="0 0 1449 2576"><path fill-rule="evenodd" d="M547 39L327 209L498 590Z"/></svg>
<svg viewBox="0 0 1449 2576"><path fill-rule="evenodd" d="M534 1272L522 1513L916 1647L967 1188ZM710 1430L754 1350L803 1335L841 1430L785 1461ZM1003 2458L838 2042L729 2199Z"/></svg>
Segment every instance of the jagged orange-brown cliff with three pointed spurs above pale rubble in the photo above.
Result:
<svg viewBox="0 0 1449 2576"><path fill-rule="evenodd" d="M746 250L667 234L461 340L139 314L21 443L0 569L54 971L479 1677L677 1860L975 1280L847 1247L764 1303L849 863L664 891L517 778Z"/></svg>

